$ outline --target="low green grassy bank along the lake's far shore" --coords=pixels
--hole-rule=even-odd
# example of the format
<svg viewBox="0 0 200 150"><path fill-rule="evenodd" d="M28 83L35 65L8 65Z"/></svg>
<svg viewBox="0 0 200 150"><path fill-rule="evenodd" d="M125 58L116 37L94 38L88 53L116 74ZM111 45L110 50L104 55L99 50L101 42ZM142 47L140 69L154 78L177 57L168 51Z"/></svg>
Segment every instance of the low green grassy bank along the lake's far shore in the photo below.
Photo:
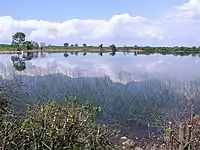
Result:
<svg viewBox="0 0 200 150"><path fill-rule="evenodd" d="M40 52L41 48L27 50L26 46L11 46L6 44L0 44L0 54L20 54L21 51L24 52ZM65 46L45 46L42 48L43 52L47 53L59 53L59 52L94 52L94 53L109 53L109 52L134 52L136 54L172 54L179 56L187 56L187 55L197 55L200 53L199 47L132 47L132 46L123 46L123 47L103 47L99 46L73 46L73 47L65 47Z"/></svg>

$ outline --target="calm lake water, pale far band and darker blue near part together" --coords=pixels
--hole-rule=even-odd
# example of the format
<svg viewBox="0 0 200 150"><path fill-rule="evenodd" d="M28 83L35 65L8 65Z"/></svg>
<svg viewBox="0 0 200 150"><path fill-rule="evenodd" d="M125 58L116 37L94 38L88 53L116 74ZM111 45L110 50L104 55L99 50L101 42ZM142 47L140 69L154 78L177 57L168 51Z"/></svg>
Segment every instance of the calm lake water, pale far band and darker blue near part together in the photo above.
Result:
<svg viewBox="0 0 200 150"><path fill-rule="evenodd" d="M29 93L23 102L75 95L101 107L99 120L137 129L136 135L145 134L140 128L155 115L179 115L188 100L199 104L198 56L37 53L24 57L22 71L13 67L12 56L22 58L0 55L0 76L22 81Z"/></svg>

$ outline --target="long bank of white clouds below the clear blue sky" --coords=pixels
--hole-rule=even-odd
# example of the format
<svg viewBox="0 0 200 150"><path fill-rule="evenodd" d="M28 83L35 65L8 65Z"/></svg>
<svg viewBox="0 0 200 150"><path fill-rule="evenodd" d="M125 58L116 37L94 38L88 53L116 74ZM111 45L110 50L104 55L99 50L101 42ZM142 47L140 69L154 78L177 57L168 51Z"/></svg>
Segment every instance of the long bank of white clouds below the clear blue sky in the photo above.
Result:
<svg viewBox="0 0 200 150"><path fill-rule="evenodd" d="M0 42L9 43L16 31L25 32L27 39L51 44L198 45L200 0L188 0L175 6L160 20L128 13L114 15L109 20L72 19L63 22L0 17Z"/></svg>

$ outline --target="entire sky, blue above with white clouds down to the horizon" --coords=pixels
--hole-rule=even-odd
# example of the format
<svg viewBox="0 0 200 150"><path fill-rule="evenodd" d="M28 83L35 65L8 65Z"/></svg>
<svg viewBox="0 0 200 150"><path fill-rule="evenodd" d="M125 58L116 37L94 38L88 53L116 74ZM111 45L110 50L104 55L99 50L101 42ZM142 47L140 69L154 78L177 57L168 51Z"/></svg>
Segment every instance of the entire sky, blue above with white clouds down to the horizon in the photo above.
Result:
<svg viewBox="0 0 200 150"><path fill-rule="evenodd" d="M0 43L199 46L200 0L2 0Z"/></svg>

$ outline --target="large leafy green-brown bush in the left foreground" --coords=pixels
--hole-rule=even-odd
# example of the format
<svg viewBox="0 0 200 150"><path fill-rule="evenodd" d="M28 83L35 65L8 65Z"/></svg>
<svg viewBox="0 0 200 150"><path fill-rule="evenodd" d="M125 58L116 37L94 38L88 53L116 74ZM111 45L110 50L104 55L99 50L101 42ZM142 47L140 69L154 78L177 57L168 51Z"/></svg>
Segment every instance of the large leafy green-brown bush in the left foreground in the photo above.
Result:
<svg viewBox="0 0 200 150"><path fill-rule="evenodd" d="M26 115L4 115L0 125L0 149L115 149L108 130L93 122L97 108L75 99L66 106L45 102L27 107Z"/></svg>

